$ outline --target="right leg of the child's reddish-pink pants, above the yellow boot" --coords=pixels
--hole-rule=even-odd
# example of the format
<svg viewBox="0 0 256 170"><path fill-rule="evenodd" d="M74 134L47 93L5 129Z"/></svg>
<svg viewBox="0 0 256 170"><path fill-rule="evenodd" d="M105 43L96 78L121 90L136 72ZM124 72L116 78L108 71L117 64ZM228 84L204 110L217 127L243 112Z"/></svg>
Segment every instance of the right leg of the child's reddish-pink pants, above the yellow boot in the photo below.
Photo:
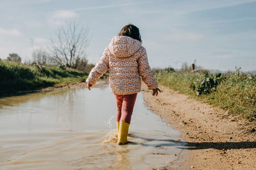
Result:
<svg viewBox="0 0 256 170"><path fill-rule="evenodd" d="M130 124L131 123L131 117L132 117L132 111L134 108L134 104L136 101L137 94L129 94L129 95L124 95L122 99L122 108L121 108L121 118L119 122L124 122Z"/></svg>

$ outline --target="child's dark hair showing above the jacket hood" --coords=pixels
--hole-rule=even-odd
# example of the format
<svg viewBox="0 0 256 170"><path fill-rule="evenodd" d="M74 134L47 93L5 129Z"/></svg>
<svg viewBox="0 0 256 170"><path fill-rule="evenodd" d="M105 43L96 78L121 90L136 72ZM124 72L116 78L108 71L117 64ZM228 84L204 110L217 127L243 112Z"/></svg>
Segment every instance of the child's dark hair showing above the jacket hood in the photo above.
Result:
<svg viewBox="0 0 256 170"><path fill-rule="evenodd" d="M141 42L140 30L132 24L125 25L119 32L118 36L129 36Z"/></svg>

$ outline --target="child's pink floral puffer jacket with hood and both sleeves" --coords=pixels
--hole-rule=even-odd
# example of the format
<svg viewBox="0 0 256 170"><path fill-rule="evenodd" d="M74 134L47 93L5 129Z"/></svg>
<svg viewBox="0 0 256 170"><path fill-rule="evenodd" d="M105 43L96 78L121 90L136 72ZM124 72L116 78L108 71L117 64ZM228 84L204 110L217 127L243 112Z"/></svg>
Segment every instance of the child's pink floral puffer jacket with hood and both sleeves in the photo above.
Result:
<svg viewBox="0 0 256 170"><path fill-rule="evenodd" d="M157 82L148 64L147 52L140 41L129 36L115 36L93 67L86 82L94 85L109 70L109 87L118 95L141 91L141 80L148 89L156 89Z"/></svg>

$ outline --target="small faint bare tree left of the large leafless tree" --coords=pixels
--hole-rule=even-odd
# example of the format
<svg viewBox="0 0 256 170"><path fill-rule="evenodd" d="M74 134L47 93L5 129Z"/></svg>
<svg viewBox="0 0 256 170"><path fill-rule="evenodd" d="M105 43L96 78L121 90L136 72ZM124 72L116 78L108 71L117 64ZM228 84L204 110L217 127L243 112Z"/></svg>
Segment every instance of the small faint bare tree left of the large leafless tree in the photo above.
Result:
<svg viewBox="0 0 256 170"><path fill-rule="evenodd" d="M33 50L32 53L33 63L36 64L49 64L49 53L43 48Z"/></svg>

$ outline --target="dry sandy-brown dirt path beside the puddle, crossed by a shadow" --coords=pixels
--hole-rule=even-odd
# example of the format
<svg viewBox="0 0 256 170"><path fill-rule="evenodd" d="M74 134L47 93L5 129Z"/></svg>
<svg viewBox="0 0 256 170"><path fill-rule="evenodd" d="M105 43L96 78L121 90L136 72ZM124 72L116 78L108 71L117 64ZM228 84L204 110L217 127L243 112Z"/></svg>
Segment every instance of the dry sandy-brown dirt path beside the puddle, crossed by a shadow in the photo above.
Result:
<svg viewBox="0 0 256 170"><path fill-rule="evenodd" d="M147 106L188 143L186 155L162 169L256 169L255 124L168 87L157 97L142 87Z"/></svg>

